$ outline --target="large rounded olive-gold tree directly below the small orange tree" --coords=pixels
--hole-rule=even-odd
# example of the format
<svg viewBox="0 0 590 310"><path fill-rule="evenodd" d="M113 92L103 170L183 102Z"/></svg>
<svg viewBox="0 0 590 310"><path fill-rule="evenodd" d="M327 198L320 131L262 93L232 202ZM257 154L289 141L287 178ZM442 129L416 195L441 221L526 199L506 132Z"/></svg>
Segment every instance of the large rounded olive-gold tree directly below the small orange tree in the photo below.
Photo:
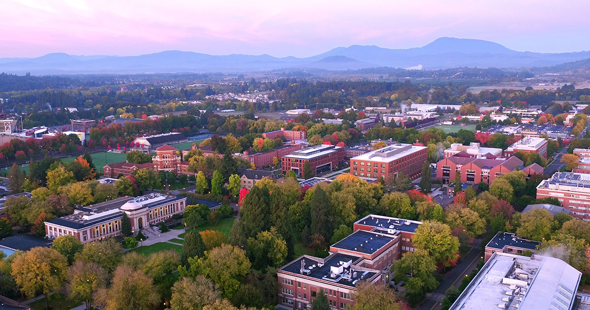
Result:
<svg viewBox="0 0 590 310"><path fill-rule="evenodd" d="M198 264L201 274L219 285L224 298L231 298L234 295L240 288L242 278L251 267L245 251L228 244L222 244L205 252L205 256L199 258L198 262L189 259L189 263Z"/></svg>

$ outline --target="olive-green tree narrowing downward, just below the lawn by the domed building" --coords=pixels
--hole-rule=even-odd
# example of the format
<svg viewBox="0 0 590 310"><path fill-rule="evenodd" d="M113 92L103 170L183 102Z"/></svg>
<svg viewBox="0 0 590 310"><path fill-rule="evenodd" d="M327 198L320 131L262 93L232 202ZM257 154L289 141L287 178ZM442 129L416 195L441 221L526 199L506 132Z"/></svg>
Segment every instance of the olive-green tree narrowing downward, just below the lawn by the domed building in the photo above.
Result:
<svg viewBox="0 0 590 310"><path fill-rule="evenodd" d="M152 278L165 304L168 304L172 295L172 285L176 280L174 273L178 271L180 264L178 252L165 250L150 254L148 262L143 266L143 272Z"/></svg>

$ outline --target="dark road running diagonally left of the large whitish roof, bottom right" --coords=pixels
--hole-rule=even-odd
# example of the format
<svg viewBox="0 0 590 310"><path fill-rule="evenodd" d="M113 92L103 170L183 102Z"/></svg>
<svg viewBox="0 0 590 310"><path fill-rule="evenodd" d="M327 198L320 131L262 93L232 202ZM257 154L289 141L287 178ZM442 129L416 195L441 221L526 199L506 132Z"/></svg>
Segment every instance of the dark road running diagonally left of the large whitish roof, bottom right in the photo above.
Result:
<svg viewBox="0 0 590 310"><path fill-rule="evenodd" d="M420 304L417 310L438 310L441 308L441 301L444 298L445 292L451 286L458 288L461 285L461 279L463 279L466 275L471 273L475 267L477 267L477 263L483 259L483 251L480 249L480 244L474 241L473 247L463 259L457 264L456 267L453 268L450 272L445 273L442 275L444 279L442 279L441 284L435 289L433 292L428 293L426 299L422 304Z"/></svg>

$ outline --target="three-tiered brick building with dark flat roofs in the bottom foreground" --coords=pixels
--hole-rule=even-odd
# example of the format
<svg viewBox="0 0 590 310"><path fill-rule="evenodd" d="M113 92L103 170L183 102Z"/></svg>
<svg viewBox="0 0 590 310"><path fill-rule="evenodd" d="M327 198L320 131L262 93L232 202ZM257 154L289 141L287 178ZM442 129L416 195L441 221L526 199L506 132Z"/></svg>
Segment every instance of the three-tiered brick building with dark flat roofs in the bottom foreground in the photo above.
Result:
<svg viewBox="0 0 590 310"><path fill-rule="evenodd" d="M330 246L326 258L303 255L277 270L277 309L309 309L320 289L330 308L348 309L359 280L387 283L392 263L407 251L415 229L421 224L400 218L366 216L355 223L354 232Z"/></svg>

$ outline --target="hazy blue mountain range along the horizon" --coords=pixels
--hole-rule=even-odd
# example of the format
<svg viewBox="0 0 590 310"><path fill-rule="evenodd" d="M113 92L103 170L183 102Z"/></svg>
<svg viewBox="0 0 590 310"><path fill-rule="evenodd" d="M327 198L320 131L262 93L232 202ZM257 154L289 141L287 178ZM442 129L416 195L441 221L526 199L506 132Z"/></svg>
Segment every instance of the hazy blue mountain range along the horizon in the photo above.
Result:
<svg viewBox="0 0 590 310"><path fill-rule="evenodd" d="M37 58L0 58L0 71L24 74L251 72L317 68L356 70L372 67L428 70L455 67L546 67L590 58L590 51L533 53L514 51L484 40L438 38L423 47L392 49L375 45L333 48L312 57L162 51L140 56L74 56L51 53Z"/></svg>

